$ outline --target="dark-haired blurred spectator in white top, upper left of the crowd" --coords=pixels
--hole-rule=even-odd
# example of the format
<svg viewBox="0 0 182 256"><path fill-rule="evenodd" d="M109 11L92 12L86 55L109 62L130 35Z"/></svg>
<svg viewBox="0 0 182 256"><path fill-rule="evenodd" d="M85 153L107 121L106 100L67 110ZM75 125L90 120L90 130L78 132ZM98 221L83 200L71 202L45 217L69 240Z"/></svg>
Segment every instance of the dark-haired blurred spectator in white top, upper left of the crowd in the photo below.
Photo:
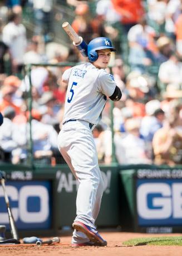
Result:
<svg viewBox="0 0 182 256"><path fill-rule="evenodd" d="M12 13L9 22L4 26L3 42L9 47L12 58L12 73L20 73L23 67L23 55L26 51L26 28L21 23L21 16Z"/></svg>

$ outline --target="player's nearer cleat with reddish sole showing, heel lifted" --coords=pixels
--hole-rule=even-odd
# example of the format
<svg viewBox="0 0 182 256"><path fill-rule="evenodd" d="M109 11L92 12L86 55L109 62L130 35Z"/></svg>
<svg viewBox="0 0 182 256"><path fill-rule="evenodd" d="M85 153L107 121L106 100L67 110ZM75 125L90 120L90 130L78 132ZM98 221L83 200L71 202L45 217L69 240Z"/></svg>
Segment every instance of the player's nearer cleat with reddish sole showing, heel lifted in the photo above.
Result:
<svg viewBox="0 0 182 256"><path fill-rule="evenodd" d="M90 241L94 242L95 246L107 245L107 241L104 240L102 236L99 234L99 232L93 227L85 225L80 221L73 222L72 227L77 231L81 231L82 233L84 233L90 239Z"/></svg>

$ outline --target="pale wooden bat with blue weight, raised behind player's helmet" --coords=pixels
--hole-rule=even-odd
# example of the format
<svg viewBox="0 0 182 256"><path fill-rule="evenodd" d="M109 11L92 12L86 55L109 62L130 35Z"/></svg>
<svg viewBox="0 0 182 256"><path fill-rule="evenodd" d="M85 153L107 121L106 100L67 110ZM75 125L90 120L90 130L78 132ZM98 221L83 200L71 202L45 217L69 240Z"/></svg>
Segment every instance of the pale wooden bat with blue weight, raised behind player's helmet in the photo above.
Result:
<svg viewBox="0 0 182 256"><path fill-rule="evenodd" d="M76 46L76 48L80 51L80 53L84 57L87 57L88 56L87 44L83 40L83 38L81 36L78 36L76 31L73 30L72 26L67 21L62 24L62 28L63 30L65 30L65 32L68 34L70 39L73 41L73 45Z"/></svg>

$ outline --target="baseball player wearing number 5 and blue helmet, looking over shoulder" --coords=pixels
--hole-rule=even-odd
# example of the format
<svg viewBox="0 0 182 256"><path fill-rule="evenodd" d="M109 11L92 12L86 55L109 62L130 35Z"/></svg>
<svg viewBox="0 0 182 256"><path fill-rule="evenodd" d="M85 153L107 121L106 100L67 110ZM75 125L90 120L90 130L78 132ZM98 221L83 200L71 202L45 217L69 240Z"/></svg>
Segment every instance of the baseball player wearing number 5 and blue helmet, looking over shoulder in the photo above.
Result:
<svg viewBox="0 0 182 256"><path fill-rule="evenodd" d="M112 75L105 71L111 51L115 51L110 39L97 37L90 41L87 50L89 63L67 69L62 75L62 82L68 87L58 148L80 182L72 246L105 246L107 241L95 227L104 182L92 130L101 120L107 97L119 101L122 94Z"/></svg>

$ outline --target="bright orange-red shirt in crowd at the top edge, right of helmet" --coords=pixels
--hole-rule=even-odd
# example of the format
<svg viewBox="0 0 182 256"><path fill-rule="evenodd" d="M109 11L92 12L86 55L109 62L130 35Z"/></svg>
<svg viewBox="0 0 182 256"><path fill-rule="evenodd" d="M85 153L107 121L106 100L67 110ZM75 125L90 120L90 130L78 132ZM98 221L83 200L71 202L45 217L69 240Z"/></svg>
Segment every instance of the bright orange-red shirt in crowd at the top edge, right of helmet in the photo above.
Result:
<svg viewBox="0 0 182 256"><path fill-rule="evenodd" d="M116 12L122 15L121 22L124 24L139 22L144 15L144 7L141 0L111 0Z"/></svg>

